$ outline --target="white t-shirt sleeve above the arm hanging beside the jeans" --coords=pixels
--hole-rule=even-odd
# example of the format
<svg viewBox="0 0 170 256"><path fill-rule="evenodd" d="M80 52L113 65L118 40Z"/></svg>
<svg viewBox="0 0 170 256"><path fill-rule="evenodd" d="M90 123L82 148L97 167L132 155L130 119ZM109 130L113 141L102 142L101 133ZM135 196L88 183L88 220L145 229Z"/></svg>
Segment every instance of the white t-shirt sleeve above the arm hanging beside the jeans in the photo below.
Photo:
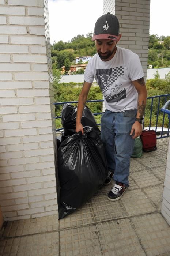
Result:
<svg viewBox="0 0 170 256"><path fill-rule="evenodd" d="M131 81L135 81L144 76L139 56L133 54L128 63L128 76Z"/></svg>

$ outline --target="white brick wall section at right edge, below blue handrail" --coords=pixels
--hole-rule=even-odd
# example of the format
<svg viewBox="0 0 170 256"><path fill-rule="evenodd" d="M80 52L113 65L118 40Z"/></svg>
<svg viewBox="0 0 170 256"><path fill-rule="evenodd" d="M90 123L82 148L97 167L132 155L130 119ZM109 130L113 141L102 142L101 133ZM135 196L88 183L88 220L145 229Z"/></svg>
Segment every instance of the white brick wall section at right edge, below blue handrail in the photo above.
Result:
<svg viewBox="0 0 170 256"><path fill-rule="evenodd" d="M165 181L161 213L163 217L166 219L167 223L170 225L170 140L165 169Z"/></svg>

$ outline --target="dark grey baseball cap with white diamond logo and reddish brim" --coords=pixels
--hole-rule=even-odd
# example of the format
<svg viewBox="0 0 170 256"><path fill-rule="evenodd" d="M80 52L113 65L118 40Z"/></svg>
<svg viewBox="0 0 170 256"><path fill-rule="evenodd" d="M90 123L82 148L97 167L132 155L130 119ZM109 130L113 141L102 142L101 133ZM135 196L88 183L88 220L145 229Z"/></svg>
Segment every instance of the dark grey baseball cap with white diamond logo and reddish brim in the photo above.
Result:
<svg viewBox="0 0 170 256"><path fill-rule="evenodd" d="M110 39L117 41L119 38L119 21L117 17L110 12L98 18L94 27L94 36L92 41L97 39Z"/></svg>

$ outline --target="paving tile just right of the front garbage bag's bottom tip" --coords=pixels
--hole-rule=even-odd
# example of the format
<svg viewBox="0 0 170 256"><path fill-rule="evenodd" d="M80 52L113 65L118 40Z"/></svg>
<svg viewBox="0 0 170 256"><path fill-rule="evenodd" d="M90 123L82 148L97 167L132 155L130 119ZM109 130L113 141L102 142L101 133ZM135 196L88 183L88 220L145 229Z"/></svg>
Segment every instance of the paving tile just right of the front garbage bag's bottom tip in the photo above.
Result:
<svg viewBox="0 0 170 256"><path fill-rule="evenodd" d="M93 223L94 218L90 203L88 202L83 204L82 207L76 210L74 213L59 220L60 229Z"/></svg>

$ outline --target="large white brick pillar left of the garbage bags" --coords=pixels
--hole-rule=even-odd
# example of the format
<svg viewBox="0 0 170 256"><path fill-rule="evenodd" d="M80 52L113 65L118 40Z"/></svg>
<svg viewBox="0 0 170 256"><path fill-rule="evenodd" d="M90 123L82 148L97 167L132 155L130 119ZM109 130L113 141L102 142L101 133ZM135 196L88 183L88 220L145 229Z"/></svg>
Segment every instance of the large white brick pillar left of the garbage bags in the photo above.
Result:
<svg viewBox="0 0 170 256"><path fill-rule="evenodd" d="M57 214L47 0L0 0L0 25L3 216Z"/></svg>

